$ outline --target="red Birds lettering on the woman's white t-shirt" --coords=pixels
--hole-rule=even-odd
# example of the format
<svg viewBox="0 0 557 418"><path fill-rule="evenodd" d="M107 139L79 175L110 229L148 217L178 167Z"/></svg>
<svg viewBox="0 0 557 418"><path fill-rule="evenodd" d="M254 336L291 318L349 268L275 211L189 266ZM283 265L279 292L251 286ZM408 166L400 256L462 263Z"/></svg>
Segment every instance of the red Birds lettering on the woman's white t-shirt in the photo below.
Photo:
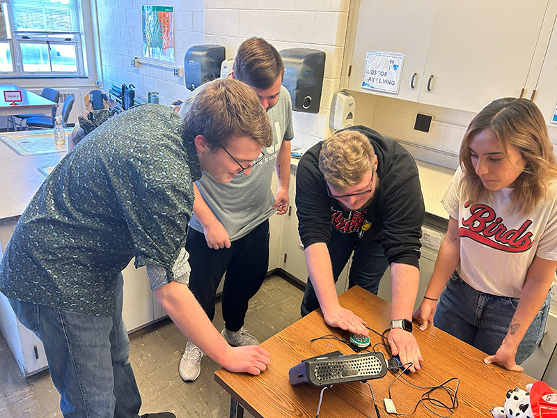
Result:
<svg viewBox="0 0 557 418"><path fill-rule="evenodd" d="M464 208L470 206L464 203ZM530 219L524 221L519 229L508 229L503 218L498 217L493 208L476 204L470 208L470 217L462 218L459 229L461 237L468 237L480 244L506 252L524 252L533 245L532 233L526 232L532 224Z"/></svg>

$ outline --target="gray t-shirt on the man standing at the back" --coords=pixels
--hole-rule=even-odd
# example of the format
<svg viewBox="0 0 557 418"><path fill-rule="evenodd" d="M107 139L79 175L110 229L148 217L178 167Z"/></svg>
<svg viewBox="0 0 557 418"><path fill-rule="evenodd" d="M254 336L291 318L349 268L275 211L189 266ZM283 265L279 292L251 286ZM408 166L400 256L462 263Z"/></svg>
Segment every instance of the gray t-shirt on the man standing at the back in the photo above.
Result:
<svg viewBox="0 0 557 418"><path fill-rule="evenodd" d="M179 115L182 118L200 88L193 91L180 107ZM230 183L223 184L214 180L207 171L202 171L201 179L196 181L201 196L223 224L230 241L250 233L275 212L275 198L270 188L274 162L282 142L290 141L294 137L292 101L284 86L281 86L278 101L267 111L267 116L273 130L273 143L269 147L263 147L265 158L253 167L248 176L240 174ZM203 233L203 226L195 215L191 218L189 226Z"/></svg>

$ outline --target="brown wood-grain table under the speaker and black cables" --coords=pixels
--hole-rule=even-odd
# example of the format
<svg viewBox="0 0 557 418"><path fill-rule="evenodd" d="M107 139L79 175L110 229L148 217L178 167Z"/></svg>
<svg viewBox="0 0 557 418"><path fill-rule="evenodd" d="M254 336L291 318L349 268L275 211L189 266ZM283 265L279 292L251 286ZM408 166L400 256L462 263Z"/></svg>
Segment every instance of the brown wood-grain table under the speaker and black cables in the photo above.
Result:
<svg viewBox="0 0 557 418"><path fill-rule="evenodd" d="M368 327L378 332L389 327L389 302L358 286L340 295L339 300L343 307L351 309L366 320ZM334 350L352 354L350 348L338 341L322 339L310 342L311 339L325 334L341 336L341 330L328 327L318 309L261 343L261 346L271 353L271 364L260 376L230 373L225 369L219 369L214 378L232 396L230 417L243 416L243 410L238 408L238 404L256 418L315 417L321 388L312 385L290 385L288 370L303 359ZM459 378L459 405L454 410L453 417L491 417L489 410L492 409L492 405L502 406L509 389L525 389L527 383L535 382L534 378L524 373L484 364L485 353L435 327L428 327L427 331L420 332L414 324L414 334L425 362L423 369L418 373L403 376L419 386L439 385L449 378ZM380 342L380 337L372 333L370 339L372 344ZM389 384L393 378L395 375L387 372L384 378L369 380L381 417L394 416L387 414L383 403L383 399L389 397ZM455 387L454 383L450 386ZM412 412L425 390L411 387L399 378L391 388L397 412ZM448 402L446 395L439 393L437 397ZM447 410L436 412L448 415ZM368 385L350 382L325 390L320 417L377 417ZM419 405L413 417L434 415L423 405Z"/></svg>

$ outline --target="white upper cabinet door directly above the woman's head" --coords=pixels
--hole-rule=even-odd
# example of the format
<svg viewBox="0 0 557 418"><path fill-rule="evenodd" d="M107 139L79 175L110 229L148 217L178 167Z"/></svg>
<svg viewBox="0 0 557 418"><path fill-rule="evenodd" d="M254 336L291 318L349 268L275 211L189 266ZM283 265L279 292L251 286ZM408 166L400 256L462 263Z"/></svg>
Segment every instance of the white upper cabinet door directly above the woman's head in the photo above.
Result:
<svg viewBox="0 0 557 418"><path fill-rule="evenodd" d="M496 98L518 97L526 83L547 1L444 0L427 53L419 101L479 111Z"/></svg>

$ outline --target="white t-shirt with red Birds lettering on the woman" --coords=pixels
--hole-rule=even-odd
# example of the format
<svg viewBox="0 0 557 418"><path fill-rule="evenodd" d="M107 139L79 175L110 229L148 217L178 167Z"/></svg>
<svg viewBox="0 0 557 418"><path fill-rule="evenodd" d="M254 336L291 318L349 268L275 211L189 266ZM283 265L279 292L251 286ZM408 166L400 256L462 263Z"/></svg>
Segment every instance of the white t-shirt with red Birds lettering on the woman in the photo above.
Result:
<svg viewBox="0 0 557 418"><path fill-rule="evenodd" d="M457 272L478 291L520 297L534 256L557 260L557 181L549 183L551 198L524 215L512 206L510 187L469 204L461 193L463 177L459 167L441 200L458 220Z"/></svg>

